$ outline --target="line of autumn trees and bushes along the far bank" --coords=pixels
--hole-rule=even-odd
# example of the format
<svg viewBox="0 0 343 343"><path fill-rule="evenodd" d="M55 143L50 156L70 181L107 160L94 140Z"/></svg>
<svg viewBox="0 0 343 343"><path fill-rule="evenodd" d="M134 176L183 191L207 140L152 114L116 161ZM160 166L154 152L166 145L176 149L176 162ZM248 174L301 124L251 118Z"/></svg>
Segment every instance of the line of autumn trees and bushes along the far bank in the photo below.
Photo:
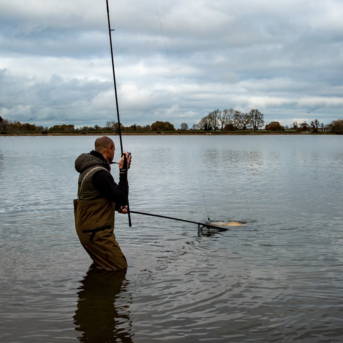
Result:
<svg viewBox="0 0 343 343"><path fill-rule="evenodd" d="M251 129L254 131L259 130L264 126L264 116L257 110L252 109L249 113L242 113L234 110L233 108L219 110L216 109L208 115L202 117L197 124L193 124L192 128L188 128L188 124L183 122L179 129L175 129L174 125L169 121L155 121L151 125L140 126L133 124L131 126L123 126L120 123L121 131L175 131L175 130L221 130L221 131L237 131ZM324 125L318 119L314 119L308 124L307 122L298 123L293 121L291 127L287 125L284 127L277 121L265 125L267 131L285 131L285 129L293 129L294 131L312 131L318 133L319 130L327 131L330 133L343 134L343 119L333 120L330 124ZM107 121L106 125L101 127L94 125L93 127L84 126L75 128L72 124L54 125L51 127L36 126L35 124L21 123L20 121L11 121L0 117L0 130L8 131L119 131L118 122L115 120Z"/></svg>

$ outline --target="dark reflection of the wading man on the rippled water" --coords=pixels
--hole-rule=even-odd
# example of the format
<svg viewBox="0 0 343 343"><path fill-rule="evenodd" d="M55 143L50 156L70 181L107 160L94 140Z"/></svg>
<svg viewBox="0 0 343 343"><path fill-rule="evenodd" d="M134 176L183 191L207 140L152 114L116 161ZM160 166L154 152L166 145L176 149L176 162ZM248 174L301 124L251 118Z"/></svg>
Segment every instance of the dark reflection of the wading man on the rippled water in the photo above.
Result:
<svg viewBox="0 0 343 343"><path fill-rule="evenodd" d="M75 330L82 333L80 342L132 342L130 300L121 299L125 274L91 268L80 281L74 316Z"/></svg>

